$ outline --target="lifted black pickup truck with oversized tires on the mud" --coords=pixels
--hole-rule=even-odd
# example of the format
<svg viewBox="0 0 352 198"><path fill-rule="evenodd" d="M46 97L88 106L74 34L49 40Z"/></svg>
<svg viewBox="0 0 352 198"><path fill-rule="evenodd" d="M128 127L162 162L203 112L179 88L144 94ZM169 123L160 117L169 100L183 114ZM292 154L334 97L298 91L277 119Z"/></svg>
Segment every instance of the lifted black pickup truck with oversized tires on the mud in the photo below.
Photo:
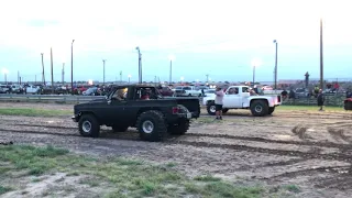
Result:
<svg viewBox="0 0 352 198"><path fill-rule="evenodd" d="M117 86L105 99L74 107L73 120L82 136L98 138L100 125L114 132L136 128L144 141L162 141L165 134L185 134L199 118L198 98L165 98L153 86Z"/></svg>

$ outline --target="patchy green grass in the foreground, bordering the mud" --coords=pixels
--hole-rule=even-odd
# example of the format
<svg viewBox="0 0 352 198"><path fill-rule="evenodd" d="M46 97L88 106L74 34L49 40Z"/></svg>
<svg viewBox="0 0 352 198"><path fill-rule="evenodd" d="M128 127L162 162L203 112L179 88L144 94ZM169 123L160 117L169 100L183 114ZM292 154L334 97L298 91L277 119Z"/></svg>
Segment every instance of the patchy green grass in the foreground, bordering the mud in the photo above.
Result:
<svg viewBox="0 0 352 198"><path fill-rule="evenodd" d="M0 145L3 179L19 179L31 175L67 173L66 177L80 177L79 184L101 188L105 197L261 197L263 188L235 186L211 175L194 179L175 170L174 164L153 165L130 158L97 160L69 153L53 146ZM19 176L19 174L21 175ZM64 180L64 178L61 178ZM30 183L40 183L37 177ZM62 184L62 183L61 183ZM112 190L111 190L112 189ZM12 188L0 186L0 194ZM21 189L18 189L21 190ZM66 190L67 191L67 190ZM75 193L70 189L67 194ZM45 194L45 191L43 193ZM55 195L55 191L51 191Z"/></svg>

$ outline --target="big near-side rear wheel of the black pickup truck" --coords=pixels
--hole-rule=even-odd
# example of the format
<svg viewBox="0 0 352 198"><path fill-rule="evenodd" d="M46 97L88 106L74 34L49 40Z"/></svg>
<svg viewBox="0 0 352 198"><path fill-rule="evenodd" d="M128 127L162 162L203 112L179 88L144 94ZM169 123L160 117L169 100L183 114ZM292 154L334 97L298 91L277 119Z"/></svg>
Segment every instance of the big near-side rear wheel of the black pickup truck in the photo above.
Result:
<svg viewBox="0 0 352 198"><path fill-rule="evenodd" d="M164 116L160 111L145 111L136 121L140 136L144 141L160 142L167 132Z"/></svg>

